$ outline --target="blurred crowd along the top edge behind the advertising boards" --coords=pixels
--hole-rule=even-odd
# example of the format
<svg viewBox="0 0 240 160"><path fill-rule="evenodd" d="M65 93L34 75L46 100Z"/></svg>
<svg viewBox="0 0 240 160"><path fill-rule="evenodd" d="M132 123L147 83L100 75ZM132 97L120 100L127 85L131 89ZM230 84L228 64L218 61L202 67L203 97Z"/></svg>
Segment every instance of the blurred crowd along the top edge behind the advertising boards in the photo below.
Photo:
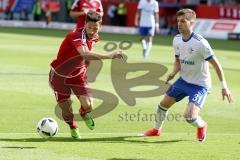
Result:
<svg viewBox="0 0 240 160"><path fill-rule="evenodd" d="M75 22L69 15L74 0L0 0L0 19L23 21ZM175 11L179 8L194 9L198 5L208 6L239 6L240 0L158 0L160 7L160 28L166 29L167 34L176 31ZM132 4L138 0L102 0L104 10L104 25L134 26ZM131 5L129 7L129 5ZM136 6L136 5L135 5ZM136 10L136 9L135 9ZM237 11L240 15L240 9Z"/></svg>

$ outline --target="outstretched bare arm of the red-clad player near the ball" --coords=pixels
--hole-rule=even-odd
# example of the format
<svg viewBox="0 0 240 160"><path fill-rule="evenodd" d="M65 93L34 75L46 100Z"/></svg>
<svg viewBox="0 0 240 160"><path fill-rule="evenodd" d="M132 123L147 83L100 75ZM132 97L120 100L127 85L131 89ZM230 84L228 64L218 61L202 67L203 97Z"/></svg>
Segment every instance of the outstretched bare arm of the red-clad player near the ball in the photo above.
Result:
<svg viewBox="0 0 240 160"><path fill-rule="evenodd" d="M77 47L77 51L80 55L87 60L100 60L100 59L125 59L126 55L122 51L114 51L111 53L101 54L93 51L89 51L86 46Z"/></svg>

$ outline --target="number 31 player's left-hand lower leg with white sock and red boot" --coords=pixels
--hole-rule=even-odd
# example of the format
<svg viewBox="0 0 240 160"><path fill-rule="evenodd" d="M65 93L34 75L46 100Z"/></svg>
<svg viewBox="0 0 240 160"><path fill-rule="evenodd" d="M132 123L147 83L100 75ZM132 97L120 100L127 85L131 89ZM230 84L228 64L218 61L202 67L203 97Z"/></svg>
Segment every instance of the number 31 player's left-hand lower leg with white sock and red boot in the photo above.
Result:
<svg viewBox="0 0 240 160"><path fill-rule="evenodd" d="M155 112L154 128L144 132L144 136L160 136L164 120L167 117L168 109L176 103L175 99L165 95Z"/></svg>

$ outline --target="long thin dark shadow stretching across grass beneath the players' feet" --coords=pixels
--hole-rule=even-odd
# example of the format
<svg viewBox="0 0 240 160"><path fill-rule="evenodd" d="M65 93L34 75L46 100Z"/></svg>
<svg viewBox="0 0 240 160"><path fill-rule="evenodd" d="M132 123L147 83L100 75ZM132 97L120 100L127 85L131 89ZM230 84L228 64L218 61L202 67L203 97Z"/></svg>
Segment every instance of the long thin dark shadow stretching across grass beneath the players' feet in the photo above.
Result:
<svg viewBox="0 0 240 160"><path fill-rule="evenodd" d="M135 138L135 139L131 139ZM138 139L136 139L138 138ZM181 141L189 140L167 140L167 141L148 141L151 140L150 137L139 137L139 136L119 136L119 137L105 137L105 138L82 138L79 140L73 139L71 137L54 137L50 139L43 138L1 138L0 141L8 142L104 142L104 143L139 143L139 144L164 144L164 143L177 143Z"/></svg>

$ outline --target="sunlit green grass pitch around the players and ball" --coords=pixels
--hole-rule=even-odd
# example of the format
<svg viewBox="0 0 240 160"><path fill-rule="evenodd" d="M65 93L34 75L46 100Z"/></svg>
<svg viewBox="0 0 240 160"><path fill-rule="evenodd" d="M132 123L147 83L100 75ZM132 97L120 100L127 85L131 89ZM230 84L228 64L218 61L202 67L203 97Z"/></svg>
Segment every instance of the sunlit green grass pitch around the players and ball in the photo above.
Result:
<svg viewBox="0 0 240 160"><path fill-rule="evenodd" d="M54 114L56 105L48 85L49 63L56 57L67 31L50 29L0 28L0 160L237 160L240 157L240 43L209 40L220 60L234 103L222 101L221 85L212 73L212 89L201 116L209 124L207 141L195 140L196 129L182 117L165 122L161 137L138 137L137 133L153 126L147 117L155 111L162 96L138 98L134 107L119 98L112 112L95 119L90 131L79 122L82 139L70 138L69 129ZM132 41L126 51L128 63L159 63L172 69L172 38L156 36L149 59L143 62L137 36L103 34L96 51L108 41ZM110 60L92 84L93 88L116 94L110 79ZM132 73L137 76L139 73ZM165 80L166 75L161 79ZM147 87L144 88L147 90ZM74 99L74 111L79 103ZM169 113L181 116L187 99ZM97 105L99 100L94 101ZM136 117L139 113L139 116ZM134 117L135 115L135 117ZM36 133L42 117L55 118L59 133L45 141ZM132 118L130 118L132 116Z"/></svg>

